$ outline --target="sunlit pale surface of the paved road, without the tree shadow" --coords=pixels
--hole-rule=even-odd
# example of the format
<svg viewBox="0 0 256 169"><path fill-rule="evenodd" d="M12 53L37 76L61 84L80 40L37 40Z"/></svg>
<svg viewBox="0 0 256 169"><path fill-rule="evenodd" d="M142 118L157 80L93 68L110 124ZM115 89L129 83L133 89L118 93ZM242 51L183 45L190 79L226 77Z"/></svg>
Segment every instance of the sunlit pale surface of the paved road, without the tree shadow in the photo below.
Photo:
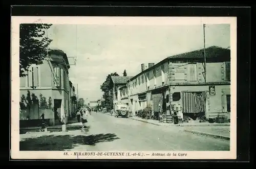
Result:
<svg viewBox="0 0 256 169"><path fill-rule="evenodd" d="M88 135L112 137L110 141L86 146L89 151L229 151L228 140L183 132L179 127L156 126L102 113L92 113L87 125L90 126ZM107 137L99 139L104 141Z"/></svg>

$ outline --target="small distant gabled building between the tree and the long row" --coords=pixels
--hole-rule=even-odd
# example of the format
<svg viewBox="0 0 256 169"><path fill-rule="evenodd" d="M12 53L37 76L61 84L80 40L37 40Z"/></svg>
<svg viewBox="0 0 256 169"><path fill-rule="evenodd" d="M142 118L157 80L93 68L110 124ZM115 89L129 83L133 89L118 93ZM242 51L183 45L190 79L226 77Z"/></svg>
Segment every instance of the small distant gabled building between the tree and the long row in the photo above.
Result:
<svg viewBox="0 0 256 169"><path fill-rule="evenodd" d="M113 86L113 109L119 103L125 103L129 105L129 100L127 98L127 81L129 81L132 77L130 76L112 76L112 86ZM126 87L126 89L125 89ZM122 91L122 92L121 92ZM125 92L123 92L125 91Z"/></svg>

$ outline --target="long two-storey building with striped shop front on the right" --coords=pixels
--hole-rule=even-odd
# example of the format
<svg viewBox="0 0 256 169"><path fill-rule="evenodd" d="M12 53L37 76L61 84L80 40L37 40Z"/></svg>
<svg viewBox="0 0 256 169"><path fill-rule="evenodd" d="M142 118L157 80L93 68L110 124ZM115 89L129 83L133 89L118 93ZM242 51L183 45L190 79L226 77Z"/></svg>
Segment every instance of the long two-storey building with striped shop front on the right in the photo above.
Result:
<svg viewBox="0 0 256 169"><path fill-rule="evenodd" d="M167 57L157 64L141 66L141 72L127 80L129 106L133 115L145 107L166 114L206 118L229 116L230 50L218 46ZM126 93L126 87L120 92ZM123 99L127 95L123 96Z"/></svg>

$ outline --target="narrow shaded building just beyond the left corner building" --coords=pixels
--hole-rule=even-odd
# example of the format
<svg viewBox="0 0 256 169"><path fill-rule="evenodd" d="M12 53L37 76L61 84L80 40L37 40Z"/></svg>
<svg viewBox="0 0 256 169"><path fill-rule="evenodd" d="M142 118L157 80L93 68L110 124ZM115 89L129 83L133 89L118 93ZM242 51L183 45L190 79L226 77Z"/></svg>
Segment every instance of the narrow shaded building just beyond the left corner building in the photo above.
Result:
<svg viewBox="0 0 256 169"><path fill-rule="evenodd" d="M69 112L70 117L74 117L76 115L76 104L77 104L77 98L76 98L76 92L75 87L73 86L73 83L69 81Z"/></svg>

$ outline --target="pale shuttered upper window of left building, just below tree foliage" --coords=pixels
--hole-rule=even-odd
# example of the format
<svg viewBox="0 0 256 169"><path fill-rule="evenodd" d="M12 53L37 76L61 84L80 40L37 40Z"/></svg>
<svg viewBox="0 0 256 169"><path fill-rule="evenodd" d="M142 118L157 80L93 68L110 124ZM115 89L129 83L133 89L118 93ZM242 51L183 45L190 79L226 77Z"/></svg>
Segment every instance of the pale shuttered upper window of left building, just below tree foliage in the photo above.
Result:
<svg viewBox="0 0 256 169"><path fill-rule="evenodd" d="M39 86L39 72L38 66L32 66L29 68L27 76L28 87L37 87Z"/></svg>

